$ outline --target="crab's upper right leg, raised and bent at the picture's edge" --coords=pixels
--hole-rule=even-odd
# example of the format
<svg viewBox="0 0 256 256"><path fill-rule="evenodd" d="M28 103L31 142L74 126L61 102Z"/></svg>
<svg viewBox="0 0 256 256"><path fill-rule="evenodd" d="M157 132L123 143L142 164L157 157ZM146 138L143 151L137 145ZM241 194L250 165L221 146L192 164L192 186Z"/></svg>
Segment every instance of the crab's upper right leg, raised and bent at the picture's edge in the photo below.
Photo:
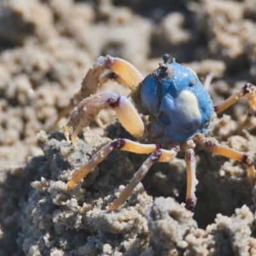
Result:
<svg viewBox="0 0 256 256"><path fill-rule="evenodd" d="M254 112L256 110L256 87L251 83L244 84L243 88L228 97L221 104L214 106L214 111L218 114L224 109L230 107L232 104L237 102L238 99L247 94L250 110Z"/></svg>

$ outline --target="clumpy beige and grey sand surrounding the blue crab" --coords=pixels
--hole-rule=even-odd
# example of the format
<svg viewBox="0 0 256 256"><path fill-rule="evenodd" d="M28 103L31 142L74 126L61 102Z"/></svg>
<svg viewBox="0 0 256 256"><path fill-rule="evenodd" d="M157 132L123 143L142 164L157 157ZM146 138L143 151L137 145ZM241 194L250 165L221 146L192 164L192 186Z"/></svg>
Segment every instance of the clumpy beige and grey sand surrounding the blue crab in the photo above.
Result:
<svg viewBox="0 0 256 256"><path fill-rule="evenodd" d="M131 138L109 111L100 113L104 129L92 124L80 134L79 150L53 127L86 69L111 54L147 75L164 53L202 80L211 72L215 104L255 84L256 1L0 1L1 256L256 255L256 193L246 166L201 147L193 213L182 204L182 153L154 164L115 212L104 209L147 156L113 152L66 190L70 173L109 138ZM107 89L129 93L111 81ZM256 118L243 126L247 110L239 100L214 119L210 135L256 159Z"/></svg>

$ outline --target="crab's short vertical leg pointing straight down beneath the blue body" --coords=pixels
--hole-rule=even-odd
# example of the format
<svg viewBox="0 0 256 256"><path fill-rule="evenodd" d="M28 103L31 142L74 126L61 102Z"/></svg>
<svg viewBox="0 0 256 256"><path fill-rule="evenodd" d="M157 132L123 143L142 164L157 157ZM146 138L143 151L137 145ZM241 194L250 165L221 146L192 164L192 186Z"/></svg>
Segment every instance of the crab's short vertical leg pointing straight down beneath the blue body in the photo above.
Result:
<svg viewBox="0 0 256 256"><path fill-rule="evenodd" d="M185 151L185 161L187 166L187 194L186 194L186 209L193 210L196 205L196 159L195 152L192 148Z"/></svg>

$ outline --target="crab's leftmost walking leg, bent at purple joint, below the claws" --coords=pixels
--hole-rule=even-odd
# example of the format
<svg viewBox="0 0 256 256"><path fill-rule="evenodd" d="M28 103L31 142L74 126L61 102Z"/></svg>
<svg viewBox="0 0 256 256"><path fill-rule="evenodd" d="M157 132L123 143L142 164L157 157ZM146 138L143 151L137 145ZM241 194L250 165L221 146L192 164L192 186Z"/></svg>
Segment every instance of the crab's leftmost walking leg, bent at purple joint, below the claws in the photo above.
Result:
<svg viewBox="0 0 256 256"><path fill-rule="evenodd" d="M101 148L88 163L84 164L74 174L70 182L68 182L68 189L74 188L76 183L83 179L97 164L102 162L113 149L125 150L138 154L150 154L159 148L158 144L140 144L126 139L115 139L109 142L106 146Z"/></svg>

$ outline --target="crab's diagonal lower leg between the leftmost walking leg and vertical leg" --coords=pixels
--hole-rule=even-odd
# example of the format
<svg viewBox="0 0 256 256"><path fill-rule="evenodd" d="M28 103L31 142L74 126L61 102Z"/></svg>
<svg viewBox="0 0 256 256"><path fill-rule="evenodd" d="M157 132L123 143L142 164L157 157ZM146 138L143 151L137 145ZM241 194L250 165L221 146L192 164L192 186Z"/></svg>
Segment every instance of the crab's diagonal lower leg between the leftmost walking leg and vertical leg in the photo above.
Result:
<svg viewBox="0 0 256 256"><path fill-rule="evenodd" d="M141 165L140 169L134 174L133 178L120 193L115 202L111 204L106 211L114 211L119 205L123 204L125 200L131 195L133 189L138 183L145 177L152 164L156 161L168 162L177 156L177 149L172 148L171 150L157 149L155 150L147 160Z"/></svg>

